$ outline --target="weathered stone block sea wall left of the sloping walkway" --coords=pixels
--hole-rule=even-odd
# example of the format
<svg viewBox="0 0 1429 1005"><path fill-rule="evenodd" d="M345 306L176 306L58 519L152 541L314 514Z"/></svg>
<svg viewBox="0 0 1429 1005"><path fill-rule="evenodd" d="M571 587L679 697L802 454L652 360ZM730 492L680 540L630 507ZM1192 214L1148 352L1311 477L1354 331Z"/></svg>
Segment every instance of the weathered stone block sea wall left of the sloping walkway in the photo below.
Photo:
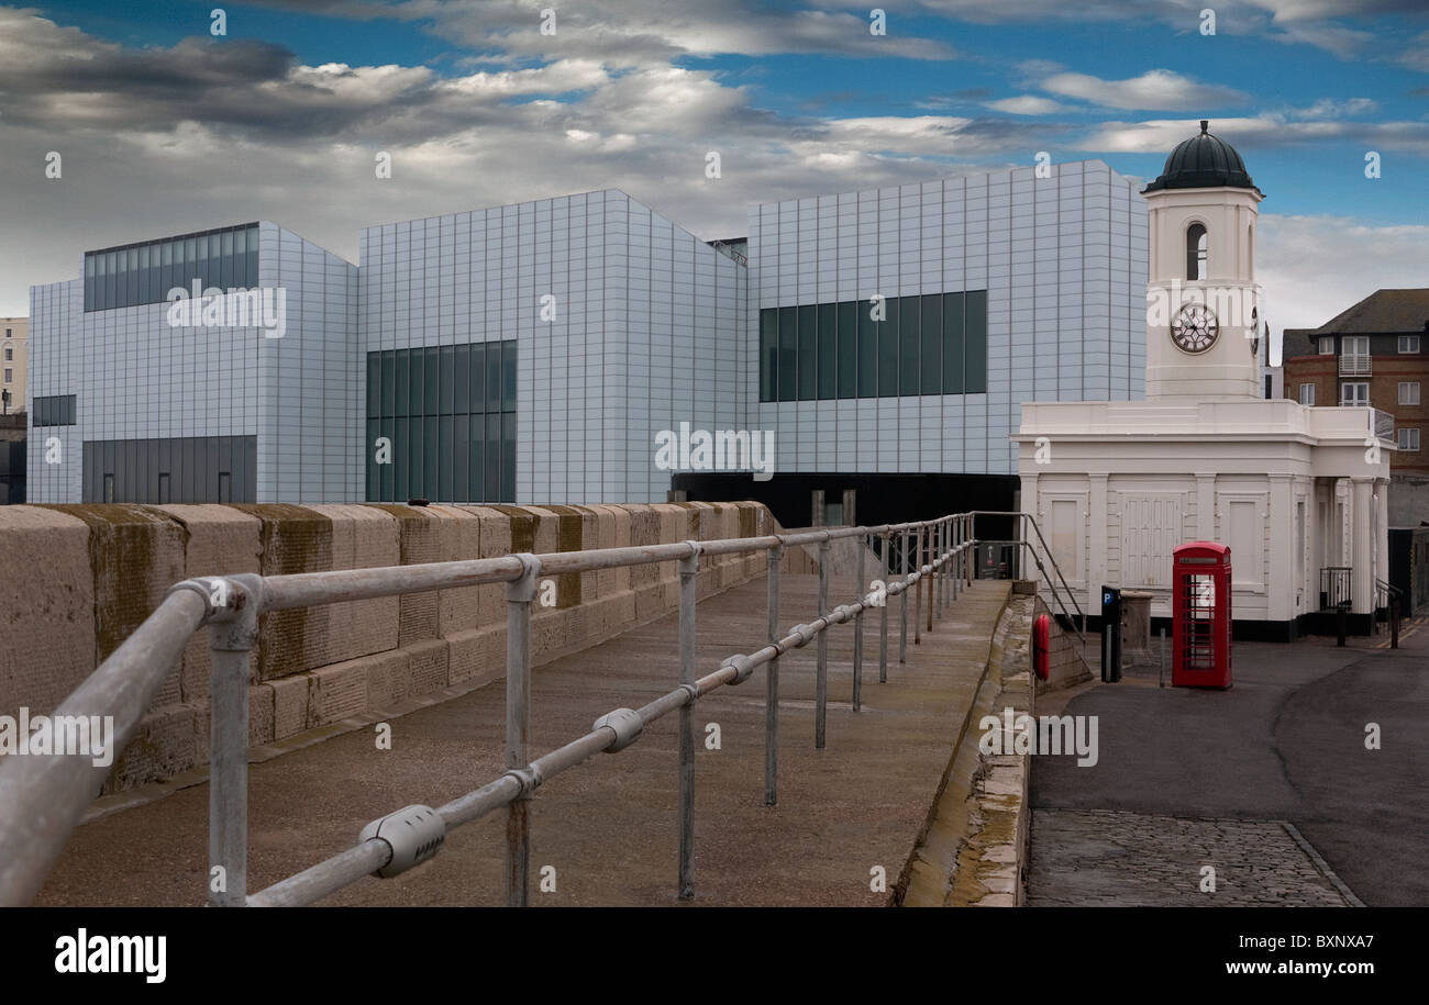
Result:
<svg viewBox="0 0 1429 1005"><path fill-rule="evenodd" d="M777 530L757 502L653 505L0 507L0 714L50 712L194 575L320 572L579 551ZM765 554L706 557L700 597L765 572ZM533 661L604 641L679 604L674 562L552 577ZM272 744L457 684L504 677L504 585L263 615L250 742ZM209 631L190 640L104 791L209 758Z"/></svg>

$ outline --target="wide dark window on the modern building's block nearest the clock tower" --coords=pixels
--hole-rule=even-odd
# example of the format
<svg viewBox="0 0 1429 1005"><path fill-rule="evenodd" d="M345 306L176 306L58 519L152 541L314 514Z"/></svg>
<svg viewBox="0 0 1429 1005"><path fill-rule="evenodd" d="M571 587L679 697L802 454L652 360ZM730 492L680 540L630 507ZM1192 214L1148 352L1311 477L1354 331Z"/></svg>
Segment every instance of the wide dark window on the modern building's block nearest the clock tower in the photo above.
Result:
<svg viewBox="0 0 1429 1005"><path fill-rule="evenodd" d="M759 311L759 400L987 391L987 291Z"/></svg>

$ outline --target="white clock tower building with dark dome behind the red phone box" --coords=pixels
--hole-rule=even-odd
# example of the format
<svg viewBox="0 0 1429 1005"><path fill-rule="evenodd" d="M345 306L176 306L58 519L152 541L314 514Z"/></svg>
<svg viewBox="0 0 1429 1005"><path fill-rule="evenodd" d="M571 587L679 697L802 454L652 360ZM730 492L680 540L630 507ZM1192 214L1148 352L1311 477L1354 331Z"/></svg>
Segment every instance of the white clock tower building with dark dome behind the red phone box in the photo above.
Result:
<svg viewBox="0 0 1429 1005"><path fill-rule="evenodd" d="M1230 144L1203 121L1143 194L1146 400L1025 403L1023 507L1092 612L1110 585L1170 617L1172 548L1202 540L1230 548L1238 634L1293 638L1340 600L1368 618L1389 570L1390 430L1372 408L1262 397L1262 194Z"/></svg>

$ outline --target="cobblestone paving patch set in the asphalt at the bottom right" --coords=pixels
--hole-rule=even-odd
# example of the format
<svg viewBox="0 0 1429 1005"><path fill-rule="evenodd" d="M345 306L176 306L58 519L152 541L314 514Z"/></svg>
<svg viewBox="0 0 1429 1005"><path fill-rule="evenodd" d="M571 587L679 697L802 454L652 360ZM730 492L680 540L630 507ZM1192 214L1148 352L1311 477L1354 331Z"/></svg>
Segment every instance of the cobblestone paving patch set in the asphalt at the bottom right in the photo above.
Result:
<svg viewBox="0 0 1429 1005"><path fill-rule="evenodd" d="M1215 892L1203 892L1203 868ZM1029 906L1348 906L1279 821L1035 809Z"/></svg>

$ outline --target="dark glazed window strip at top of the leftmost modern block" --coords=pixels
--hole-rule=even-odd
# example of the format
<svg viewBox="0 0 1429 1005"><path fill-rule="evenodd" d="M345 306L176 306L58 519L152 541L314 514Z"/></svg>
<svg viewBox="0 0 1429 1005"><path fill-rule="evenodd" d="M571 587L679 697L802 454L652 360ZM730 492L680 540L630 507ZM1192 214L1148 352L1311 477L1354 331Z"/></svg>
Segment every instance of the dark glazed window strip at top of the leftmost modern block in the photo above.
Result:
<svg viewBox="0 0 1429 1005"><path fill-rule="evenodd" d="M174 287L257 286L259 226L224 227L163 241L84 253L84 310L160 304Z"/></svg>

